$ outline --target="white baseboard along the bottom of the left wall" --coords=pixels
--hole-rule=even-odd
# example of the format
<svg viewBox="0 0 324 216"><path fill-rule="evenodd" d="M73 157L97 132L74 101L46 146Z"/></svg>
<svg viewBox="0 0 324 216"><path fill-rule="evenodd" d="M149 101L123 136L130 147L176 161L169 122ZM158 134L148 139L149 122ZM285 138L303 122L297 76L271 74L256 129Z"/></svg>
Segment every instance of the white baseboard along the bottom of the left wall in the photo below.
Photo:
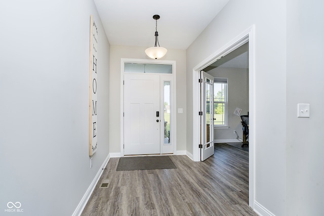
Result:
<svg viewBox="0 0 324 216"><path fill-rule="evenodd" d="M88 190L86 191L85 195L82 197L81 201L79 202L79 204L77 205L77 207L75 208L72 216L79 216L81 215L83 209L86 207L86 204L88 203L89 199L90 199L90 196L93 192L93 190L95 189L101 175L102 175L102 172L103 172L103 168L106 167L108 161L109 161L109 155L107 155L106 159L103 161L102 165L100 166L98 172L97 172L97 175L95 176L95 178L93 179L92 183L90 184Z"/></svg>

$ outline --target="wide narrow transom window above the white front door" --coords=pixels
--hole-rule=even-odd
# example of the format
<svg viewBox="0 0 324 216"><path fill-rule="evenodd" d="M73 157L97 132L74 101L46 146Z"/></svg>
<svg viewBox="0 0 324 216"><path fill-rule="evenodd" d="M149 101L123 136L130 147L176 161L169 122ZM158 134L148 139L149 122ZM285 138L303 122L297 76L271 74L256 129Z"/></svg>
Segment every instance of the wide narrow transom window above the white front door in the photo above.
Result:
<svg viewBox="0 0 324 216"><path fill-rule="evenodd" d="M125 73L172 73L172 65L125 63Z"/></svg>

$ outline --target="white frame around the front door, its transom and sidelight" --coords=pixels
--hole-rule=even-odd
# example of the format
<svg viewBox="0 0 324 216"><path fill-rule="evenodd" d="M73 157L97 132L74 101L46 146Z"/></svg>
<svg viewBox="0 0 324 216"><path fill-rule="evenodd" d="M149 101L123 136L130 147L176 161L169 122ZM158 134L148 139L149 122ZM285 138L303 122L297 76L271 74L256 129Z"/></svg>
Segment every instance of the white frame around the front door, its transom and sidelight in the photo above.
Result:
<svg viewBox="0 0 324 216"><path fill-rule="evenodd" d="M171 116L172 127L170 128L171 142L173 142L173 154L176 155L177 153L177 113L176 113L176 95L177 95L177 80L176 80L176 61L165 61L165 60L149 60L149 59L120 59L120 157L124 156L124 71L125 71L125 63L140 63L140 64L168 64L172 65L172 74L163 74L162 75L172 75L172 91L171 91ZM167 79L163 79L167 80ZM161 80L160 80L161 81ZM162 105L161 105L162 106ZM164 131L163 129L160 130L161 133ZM164 135L163 135L164 136ZM161 136L162 139L162 136ZM160 145L163 145L164 142L160 141ZM162 148L160 154L162 154Z"/></svg>

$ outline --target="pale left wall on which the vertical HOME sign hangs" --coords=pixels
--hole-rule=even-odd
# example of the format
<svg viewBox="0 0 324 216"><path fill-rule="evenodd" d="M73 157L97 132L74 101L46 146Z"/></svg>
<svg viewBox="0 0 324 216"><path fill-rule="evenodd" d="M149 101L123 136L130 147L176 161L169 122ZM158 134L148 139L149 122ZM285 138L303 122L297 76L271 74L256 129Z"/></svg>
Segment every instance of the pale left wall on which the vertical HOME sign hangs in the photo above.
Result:
<svg viewBox="0 0 324 216"><path fill-rule="evenodd" d="M93 1L1 1L0 212L71 215L109 153L109 44ZM98 151L89 157L90 15Z"/></svg>

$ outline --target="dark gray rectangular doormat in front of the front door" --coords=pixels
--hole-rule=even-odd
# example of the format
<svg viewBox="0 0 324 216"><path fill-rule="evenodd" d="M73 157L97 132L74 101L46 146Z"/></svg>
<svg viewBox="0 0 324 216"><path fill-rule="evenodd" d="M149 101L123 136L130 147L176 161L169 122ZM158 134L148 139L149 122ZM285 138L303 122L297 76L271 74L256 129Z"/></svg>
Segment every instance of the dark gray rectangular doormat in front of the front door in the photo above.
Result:
<svg viewBox="0 0 324 216"><path fill-rule="evenodd" d="M177 166L169 156L120 157L116 171L173 168Z"/></svg>

